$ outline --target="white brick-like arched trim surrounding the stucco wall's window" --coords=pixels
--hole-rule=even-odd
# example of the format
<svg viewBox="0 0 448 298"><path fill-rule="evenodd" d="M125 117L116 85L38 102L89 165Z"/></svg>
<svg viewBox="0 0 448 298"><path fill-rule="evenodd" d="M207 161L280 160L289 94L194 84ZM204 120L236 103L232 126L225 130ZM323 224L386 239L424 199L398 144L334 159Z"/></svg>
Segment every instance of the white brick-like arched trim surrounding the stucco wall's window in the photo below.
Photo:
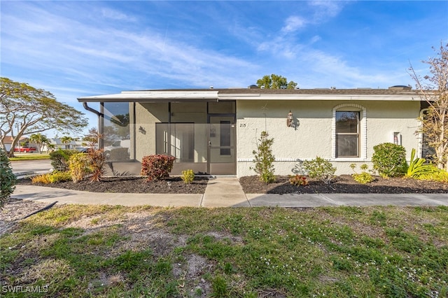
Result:
<svg viewBox="0 0 448 298"><path fill-rule="evenodd" d="M359 157L336 157L336 111L360 111L360 156ZM367 159L367 110L360 104L339 104L332 111L332 159L342 160L365 160Z"/></svg>

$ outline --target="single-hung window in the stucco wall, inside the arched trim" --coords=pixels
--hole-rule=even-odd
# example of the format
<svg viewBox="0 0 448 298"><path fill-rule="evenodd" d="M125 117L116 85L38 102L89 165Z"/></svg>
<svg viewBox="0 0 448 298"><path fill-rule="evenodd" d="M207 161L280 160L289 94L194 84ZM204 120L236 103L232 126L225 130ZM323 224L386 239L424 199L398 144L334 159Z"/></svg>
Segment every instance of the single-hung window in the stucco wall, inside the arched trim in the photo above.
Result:
<svg viewBox="0 0 448 298"><path fill-rule="evenodd" d="M336 111L336 157L359 157L359 112Z"/></svg>

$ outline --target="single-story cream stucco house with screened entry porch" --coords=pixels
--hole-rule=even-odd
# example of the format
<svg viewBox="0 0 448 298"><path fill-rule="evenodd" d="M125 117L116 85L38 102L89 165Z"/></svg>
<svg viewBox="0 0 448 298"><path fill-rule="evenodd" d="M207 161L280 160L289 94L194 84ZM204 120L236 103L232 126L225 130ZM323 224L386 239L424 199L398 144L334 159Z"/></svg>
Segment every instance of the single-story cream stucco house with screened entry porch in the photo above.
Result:
<svg viewBox="0 0 448 298"><path fill-rule="evenodd" d="M397 143L422 155L417 118L426 108L417 90L248 88L144 90L80 97L99 117L100 147L114 169L138 174L145 155L176 157L172 174L251 176L260 134L274 139L277 175L300 173L301 162L330 160L337 174L370 164L373 147ZM96 111L88 104L99 103Z"/></svg>

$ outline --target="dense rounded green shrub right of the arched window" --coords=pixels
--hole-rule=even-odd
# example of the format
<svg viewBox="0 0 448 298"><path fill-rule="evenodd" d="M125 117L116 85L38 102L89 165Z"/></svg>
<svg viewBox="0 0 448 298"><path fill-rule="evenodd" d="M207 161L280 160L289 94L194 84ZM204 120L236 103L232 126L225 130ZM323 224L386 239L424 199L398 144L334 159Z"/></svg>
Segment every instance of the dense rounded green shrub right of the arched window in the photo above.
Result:
<svg viewBox="0 0 448 298"><path fill-rule="evenodd" d="M383 178L400 176L406 167L406 149L393 143L373 147L373 169Z"/></svg>

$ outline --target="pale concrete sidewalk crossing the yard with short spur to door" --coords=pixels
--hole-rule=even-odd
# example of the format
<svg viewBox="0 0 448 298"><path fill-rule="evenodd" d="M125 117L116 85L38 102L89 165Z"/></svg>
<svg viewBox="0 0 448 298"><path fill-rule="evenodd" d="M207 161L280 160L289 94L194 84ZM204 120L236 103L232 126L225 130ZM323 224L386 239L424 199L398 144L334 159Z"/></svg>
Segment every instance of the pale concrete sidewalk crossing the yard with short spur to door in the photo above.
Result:
<svg viewBox="0 0 448 298"><path fill-rule="evenodd" d="M17 185L13 199L57 204L192 207L448 206L448 194L245 194L238 178L211 178L204 194L120 194Z"/></svg>

